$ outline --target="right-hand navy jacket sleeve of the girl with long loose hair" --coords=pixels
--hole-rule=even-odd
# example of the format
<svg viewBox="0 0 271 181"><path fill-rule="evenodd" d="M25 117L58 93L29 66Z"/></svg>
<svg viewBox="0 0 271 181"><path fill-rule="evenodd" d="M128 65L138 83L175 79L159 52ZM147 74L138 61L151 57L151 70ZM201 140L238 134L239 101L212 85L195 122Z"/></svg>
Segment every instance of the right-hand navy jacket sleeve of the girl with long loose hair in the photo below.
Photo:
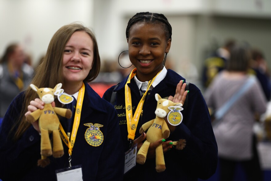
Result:
<svg viewBox="0 0 271 181"><path fill-rule="evenodd" d="M123 180L124 153L120 137L119 121L115 109L110 106L108 110L108 130L105 138L103 152L99 160L96 180Z"/></svg>

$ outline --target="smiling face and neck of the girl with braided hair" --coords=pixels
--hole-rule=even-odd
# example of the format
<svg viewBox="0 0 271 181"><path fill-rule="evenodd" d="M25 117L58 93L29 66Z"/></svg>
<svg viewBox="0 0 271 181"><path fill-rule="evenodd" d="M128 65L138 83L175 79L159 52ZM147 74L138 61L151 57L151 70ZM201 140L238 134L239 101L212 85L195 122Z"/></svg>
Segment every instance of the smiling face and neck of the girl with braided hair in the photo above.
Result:
<svg viewBox="0 0 271 181"><path fill-rule="evenodd" d="M163 67L171 39L166 38L160 24L141 22L132 25L127 42L130 61L137 68L136 77L142 82L151 80Z"/></svg>

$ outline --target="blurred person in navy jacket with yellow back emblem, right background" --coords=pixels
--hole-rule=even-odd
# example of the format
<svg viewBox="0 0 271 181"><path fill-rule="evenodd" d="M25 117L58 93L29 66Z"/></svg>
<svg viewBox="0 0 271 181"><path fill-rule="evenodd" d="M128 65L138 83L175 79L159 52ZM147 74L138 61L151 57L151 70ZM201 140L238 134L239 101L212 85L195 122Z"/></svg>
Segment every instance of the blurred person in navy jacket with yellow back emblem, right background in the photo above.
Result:
<svg viewBox="0 0 271 181"><path fill-rule="evenodd" d="M228 39L224 45L216 49L211 56L204 60L202 84L207 88L218 72L225 69L227 60L230 57L230 49L236 44L235 40Z"/></svg>

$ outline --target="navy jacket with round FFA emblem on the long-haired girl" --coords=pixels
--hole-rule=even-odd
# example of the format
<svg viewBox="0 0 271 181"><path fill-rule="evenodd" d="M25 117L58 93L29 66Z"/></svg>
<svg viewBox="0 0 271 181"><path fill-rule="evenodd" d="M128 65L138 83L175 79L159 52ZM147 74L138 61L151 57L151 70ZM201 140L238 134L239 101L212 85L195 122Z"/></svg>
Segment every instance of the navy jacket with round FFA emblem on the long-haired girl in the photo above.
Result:
<svg viewBox="0 0 271 181"><path fill-rule="evenodd" d="M84 180L122 180L124 154L120 148L120 131L114 107L100 98L85 83L85 95L81 120L71 155L71 166L82 165ZM56 180L55 171L68 167L68 147L63 142L65 154L61 158L49 157L51 163L38 167L40 156L40 135L30 128L17 141L8 137L9 130L18 120L24 101L24 94L19 94L11 103L0 128L0 179L6 180ZM99 131L103 134L100 146L91 146L85 137L89 126L103 125ZM14 134L14 133L12 133ZM11 135L12 135L11 134Z"/></svg>

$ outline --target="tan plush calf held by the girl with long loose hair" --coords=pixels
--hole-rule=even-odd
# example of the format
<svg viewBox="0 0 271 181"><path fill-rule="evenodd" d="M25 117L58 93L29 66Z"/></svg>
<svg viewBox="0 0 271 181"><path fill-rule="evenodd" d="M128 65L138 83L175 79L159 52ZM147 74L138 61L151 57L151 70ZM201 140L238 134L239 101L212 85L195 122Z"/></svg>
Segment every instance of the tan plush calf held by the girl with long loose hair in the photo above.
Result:
<svg viewBox="0 0 271 181"><path fill-rule="evenodd" d="M45 103L44 109L37 109L31 114L26 116L26 121L32 123L39 119L38 125L41 132L41 156L42 159L38 160L38 166L45 167L50 161L47 156L53 155L55 158L62 157L64 154L62 141L59 135L59 118L60 116L71 118L71 110L64 108L52 107L51 103L55 100L55 91L61 88L62 84L59 83L52 88L38 88L34 84L30 87L37 92L39 98ZM53 151L49 134L53 134Z"/></svg>

